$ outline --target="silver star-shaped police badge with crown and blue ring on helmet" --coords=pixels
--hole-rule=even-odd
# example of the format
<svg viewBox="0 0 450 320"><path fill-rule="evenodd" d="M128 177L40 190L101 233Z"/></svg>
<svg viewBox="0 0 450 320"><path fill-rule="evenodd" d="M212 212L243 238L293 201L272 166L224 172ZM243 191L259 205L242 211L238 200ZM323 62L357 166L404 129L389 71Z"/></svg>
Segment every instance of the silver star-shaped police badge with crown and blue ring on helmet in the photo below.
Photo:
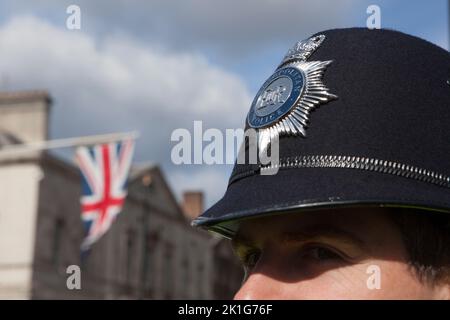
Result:
<svg viewBox="0 0 450 320"><path fill-rule="evenodd" d="M258 130L260 151L275 136L306 137L310 112L337 96L322 82L328 61L307 61L325 40L324 35L297 42L254 98L247 123Z"/></svg>

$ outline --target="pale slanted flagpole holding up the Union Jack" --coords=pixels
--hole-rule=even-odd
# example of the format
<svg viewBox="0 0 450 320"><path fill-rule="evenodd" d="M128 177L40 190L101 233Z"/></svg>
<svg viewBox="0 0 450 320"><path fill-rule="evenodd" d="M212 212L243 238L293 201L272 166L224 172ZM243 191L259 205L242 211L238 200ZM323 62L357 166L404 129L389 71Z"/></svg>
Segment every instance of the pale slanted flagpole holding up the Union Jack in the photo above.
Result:
<svg viewBox="0 0 450 320"><path fill-rule="evenodd" d="M33 152L33 151L44 151L44 150L50 150L50 149L95 145L95 144L102 144L102 143L114 142L114 141L119 141L119 140L137 139L137 138L139 138L139 132L131 131L131 132L118 132L118 133L83 136L83 137L75 137L75 138L46 140L46 141L31 142L31 143L12 144L12 145L6 145L6 146L3 146L2 148L0 148L0 157L13 156L13 155L27 153L27 152Z"/></svg>

